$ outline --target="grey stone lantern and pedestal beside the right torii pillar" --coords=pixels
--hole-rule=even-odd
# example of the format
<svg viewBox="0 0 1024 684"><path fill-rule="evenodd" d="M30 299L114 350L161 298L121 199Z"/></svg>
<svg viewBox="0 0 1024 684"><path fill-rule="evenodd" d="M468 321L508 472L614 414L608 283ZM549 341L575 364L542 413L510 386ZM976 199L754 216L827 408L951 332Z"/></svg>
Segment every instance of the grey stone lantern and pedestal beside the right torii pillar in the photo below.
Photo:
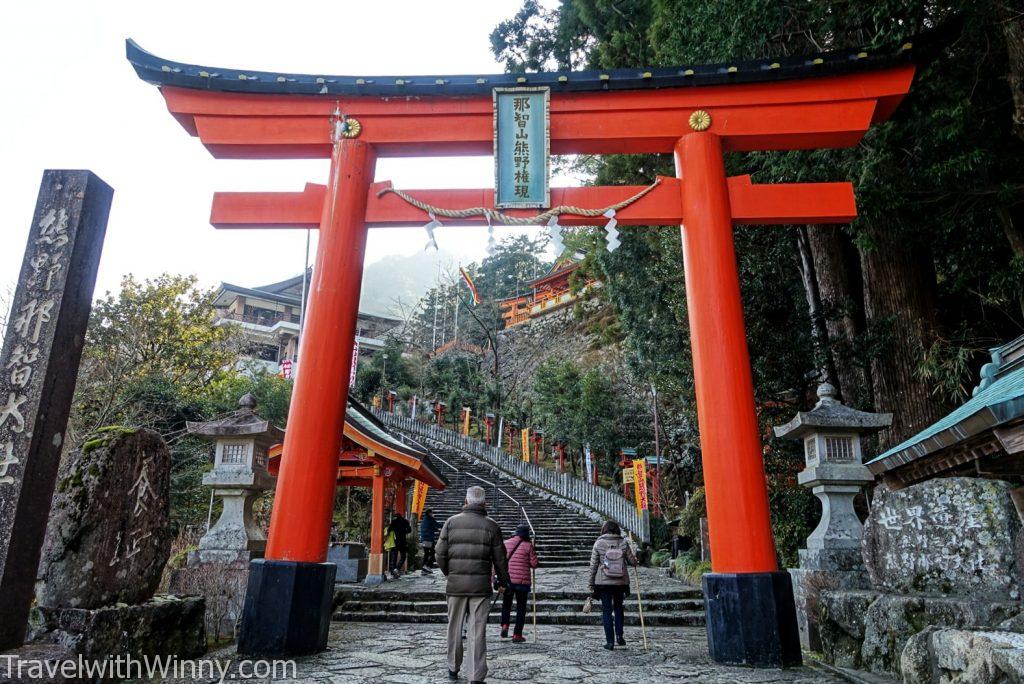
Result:
<svg viewBox="0 0 1024 684"><path fill-rule="evenodd" d="M822 589L870 589L860 551L863 525L853 500L874 477L863 464L860 439L892 424L892 414L872 414L844 405L836 388L818 386L818 402L774 428L776 437L799 439L805 468L797 481L821 501L821 520L800 550L800 567L791 568L797 622L804 648L820 650L817 616Z"/></svg>

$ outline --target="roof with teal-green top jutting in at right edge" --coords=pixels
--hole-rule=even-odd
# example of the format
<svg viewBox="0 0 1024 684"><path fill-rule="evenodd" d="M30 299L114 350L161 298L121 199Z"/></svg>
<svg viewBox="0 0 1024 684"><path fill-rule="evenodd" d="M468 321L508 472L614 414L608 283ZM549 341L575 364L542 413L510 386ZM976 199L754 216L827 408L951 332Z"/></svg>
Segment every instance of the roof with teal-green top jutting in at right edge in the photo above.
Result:
<svg viewBox="0 0 1024 684"><path fill-rule="evenodd" d="M942 452L1024 417L1024 336L990 350L992 362L967 402L902 443L867 462L879 474Z"/></svg>

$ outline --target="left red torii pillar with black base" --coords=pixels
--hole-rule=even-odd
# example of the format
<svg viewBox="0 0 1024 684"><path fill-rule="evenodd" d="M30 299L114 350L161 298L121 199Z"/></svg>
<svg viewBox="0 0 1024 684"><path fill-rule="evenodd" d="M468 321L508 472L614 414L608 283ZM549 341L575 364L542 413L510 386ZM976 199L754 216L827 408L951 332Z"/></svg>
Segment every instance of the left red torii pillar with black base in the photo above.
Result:
<svg viewBox="0 0 1024 684"><path fill-rule="evenodd" d="M362 260L371 145L335 137L309 314L289 411L266 558L250 566L239 653L300 655L327 647L336 567L327 560L338 453L348 400ZM377 478L374 479L375 485ZM374 488L375 502L377 487Z"/></svg>

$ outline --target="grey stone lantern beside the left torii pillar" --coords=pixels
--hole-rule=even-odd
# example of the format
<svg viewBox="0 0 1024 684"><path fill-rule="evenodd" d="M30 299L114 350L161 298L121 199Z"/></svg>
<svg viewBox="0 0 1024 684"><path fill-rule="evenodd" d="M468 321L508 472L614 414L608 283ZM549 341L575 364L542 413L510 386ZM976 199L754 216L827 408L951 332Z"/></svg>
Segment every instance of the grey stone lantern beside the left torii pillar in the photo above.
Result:
<svg viewBox="0 0 1024 684"><path fill-rule="evenodd" d="M239 410L226 418L187 423L187 430L216 444L213 470L203 476L203 484L212 486L223 502L220 518L200 540L199 561L262 558L266 536L253 519L253 502L275 485L276 478L267 471L267 452L285 440L285 431L256 415L252 394L243 396Z"/></svg>

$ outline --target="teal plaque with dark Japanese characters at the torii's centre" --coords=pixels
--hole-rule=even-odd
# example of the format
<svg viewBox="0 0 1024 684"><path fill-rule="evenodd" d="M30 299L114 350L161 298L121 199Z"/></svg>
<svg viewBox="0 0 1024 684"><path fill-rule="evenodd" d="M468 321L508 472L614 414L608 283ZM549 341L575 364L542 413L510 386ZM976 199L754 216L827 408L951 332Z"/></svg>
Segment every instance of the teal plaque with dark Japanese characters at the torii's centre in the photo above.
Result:
<svg viewBox="0 0 1024 684"><path fill-rule="evenodd" d="M548 88L495 88L495 206L551 206Z"/></svg>

